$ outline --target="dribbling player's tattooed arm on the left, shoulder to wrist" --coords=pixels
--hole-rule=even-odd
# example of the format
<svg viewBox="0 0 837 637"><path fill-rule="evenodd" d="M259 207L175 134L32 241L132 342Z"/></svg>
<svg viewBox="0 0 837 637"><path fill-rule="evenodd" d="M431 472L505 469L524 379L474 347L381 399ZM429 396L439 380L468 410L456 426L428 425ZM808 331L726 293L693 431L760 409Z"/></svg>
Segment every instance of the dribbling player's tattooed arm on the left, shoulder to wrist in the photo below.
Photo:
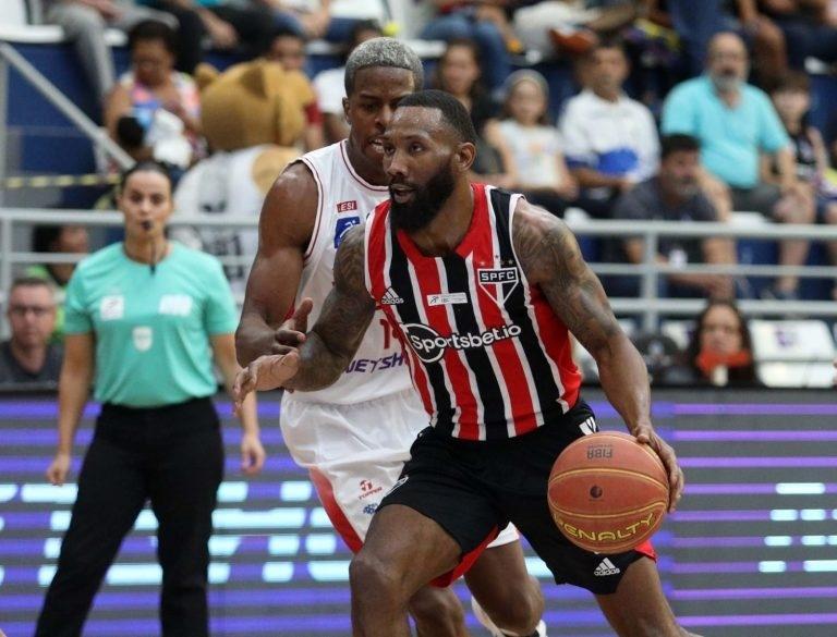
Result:
<svg viewBox="0 0 837 637"><path fill-rule="evenodd" d="M300 370L288 388L313 391L337 381L361 346L375 302L364 281L364 226L347 233L335 258L335 286L307 340L300 347Z"/></svg>

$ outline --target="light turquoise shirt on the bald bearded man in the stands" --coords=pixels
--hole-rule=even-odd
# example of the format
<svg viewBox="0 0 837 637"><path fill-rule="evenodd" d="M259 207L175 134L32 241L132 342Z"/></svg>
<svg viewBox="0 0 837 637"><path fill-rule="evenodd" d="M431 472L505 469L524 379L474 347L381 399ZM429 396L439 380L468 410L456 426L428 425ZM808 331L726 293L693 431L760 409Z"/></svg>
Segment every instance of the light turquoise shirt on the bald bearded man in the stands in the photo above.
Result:
<svg viewBox="0 0 837 637"><path fill-rule="evenodd" d="M767 95L744 84L741 100L729 108L703 75L676 86L663 107L663 134L684 133L701 143L703 166L730 186L752 188L759 154L789 146L785 127Z"/></svg>

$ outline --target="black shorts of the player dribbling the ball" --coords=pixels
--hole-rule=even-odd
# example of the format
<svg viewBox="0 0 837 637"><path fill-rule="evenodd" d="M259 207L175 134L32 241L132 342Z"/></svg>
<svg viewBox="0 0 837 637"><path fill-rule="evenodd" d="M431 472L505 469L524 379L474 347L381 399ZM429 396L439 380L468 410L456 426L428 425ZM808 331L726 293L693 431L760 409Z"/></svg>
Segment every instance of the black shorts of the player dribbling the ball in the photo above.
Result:
<svg viewBox="0 0 837 637"><path fill-rule="evenodd" d="M558 530L547 503L555 458L573 440L595 430L593 412L581 399L559 420L508 440L457 440L428 427L413 443L412 458L379 510L402 504L441 526L462 549L462 568L451 572L453 576L511 522L557 584L612 593L631 563L642 556L656 559L651 543L615 555L585 551Z"/></svg>

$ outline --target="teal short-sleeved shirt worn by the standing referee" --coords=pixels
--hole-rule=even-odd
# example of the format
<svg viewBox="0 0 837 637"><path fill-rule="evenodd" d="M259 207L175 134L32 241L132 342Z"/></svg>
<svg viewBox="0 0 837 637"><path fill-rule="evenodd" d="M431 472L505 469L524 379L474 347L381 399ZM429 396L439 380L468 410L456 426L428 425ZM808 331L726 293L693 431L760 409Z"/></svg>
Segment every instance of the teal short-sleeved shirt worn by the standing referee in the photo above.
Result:
<svg viewBox="0 0 837 637"><path fill-rule="evenodd" d="M94 332L96 400L154 407L214 394L209 336L235 331L220 262L172 243L151 273L123 244L84 259L66 290L64 333Z"/></svg>

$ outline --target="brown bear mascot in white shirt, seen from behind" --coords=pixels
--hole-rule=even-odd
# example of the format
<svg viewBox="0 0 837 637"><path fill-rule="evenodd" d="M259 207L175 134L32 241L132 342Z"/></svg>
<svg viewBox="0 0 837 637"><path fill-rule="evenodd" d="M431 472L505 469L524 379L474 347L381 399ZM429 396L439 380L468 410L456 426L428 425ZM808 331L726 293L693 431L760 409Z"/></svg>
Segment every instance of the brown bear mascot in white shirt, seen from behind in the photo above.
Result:
<svg viewBox="0 0 837 637"><path fill-rule="evenodd" d="M301 155L305 107L314 91L300 72L255 60L223 73L202 64L201 120L211 155L190 169L174 192L175 215L257 218L270 185ZM173 238L226 262L227 277L243 294L258 245L255 228L175 226Z"/></svg>

